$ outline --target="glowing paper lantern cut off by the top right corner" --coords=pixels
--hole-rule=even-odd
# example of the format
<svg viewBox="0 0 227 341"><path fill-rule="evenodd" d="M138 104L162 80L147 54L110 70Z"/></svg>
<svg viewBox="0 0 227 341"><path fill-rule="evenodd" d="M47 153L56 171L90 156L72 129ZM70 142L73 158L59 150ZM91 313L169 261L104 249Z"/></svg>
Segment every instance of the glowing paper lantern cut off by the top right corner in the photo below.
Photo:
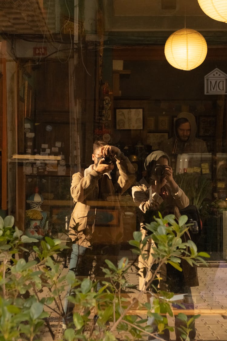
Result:
<svg viewBox="0 0 227 341"><path fill-rule="evenodd" d="M202 11L217 21L227 23L227 1L226 0L198 0Z"/></svg>

